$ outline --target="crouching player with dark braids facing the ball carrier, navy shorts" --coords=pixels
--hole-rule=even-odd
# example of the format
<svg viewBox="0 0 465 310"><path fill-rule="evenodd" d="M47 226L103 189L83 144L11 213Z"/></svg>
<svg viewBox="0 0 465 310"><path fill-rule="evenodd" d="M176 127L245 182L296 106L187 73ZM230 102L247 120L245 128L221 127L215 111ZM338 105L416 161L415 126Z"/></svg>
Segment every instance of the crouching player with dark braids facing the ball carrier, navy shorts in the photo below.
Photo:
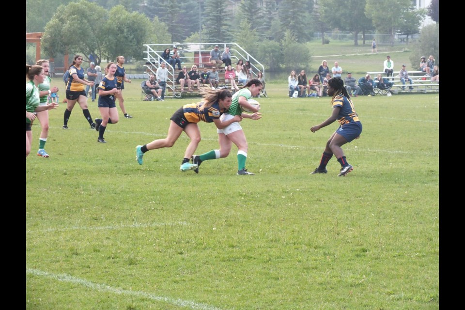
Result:
<svg viewBox="0 0 465 310"><path fill-rule="evenodd" d="M311 174L327 173L326 165L329 159L334 155L341 164L341 171L338 176L344 176L354 170L354 167L345 159L344 151L342 151L341 146L354 139L360 138L362 123L358 119L354 104L352 100L350 100L350 95L347 93L341 78L331 78L328 81L328 95L332 96L331 106L333 108L333 113L323 123L312 126L310 130L311 132L318 131L336 120L339 122L340 126L326 142L325 151L320 160L320 166Z"/></svg>

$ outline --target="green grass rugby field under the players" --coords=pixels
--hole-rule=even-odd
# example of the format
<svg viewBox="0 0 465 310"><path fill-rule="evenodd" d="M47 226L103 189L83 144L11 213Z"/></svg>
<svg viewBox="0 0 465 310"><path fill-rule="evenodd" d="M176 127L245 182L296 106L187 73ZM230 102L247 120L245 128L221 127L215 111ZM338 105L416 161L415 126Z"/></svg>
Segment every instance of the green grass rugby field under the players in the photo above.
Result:
<svg viewBox="0 0 465 310"><path fill-rule="evenodd" d="M26 158L26 309L29 310L425 310L439 308L439 95L354 98L361 138L343 149L354 171L310 175L338 127L310 127L329 98L287 97L267 84L263 119L244 120L247 168L236 151L181 172L183 134L164 138L191 99L140 101L133 119L97 143L81 109L62 130L65 104L50 112L49 158ZM62 85L54 79L52 85ZM60 93L60 99L64 93ZM93 118L96 104L89 102ZM200 124L196 154L218 148Z"/></svg>

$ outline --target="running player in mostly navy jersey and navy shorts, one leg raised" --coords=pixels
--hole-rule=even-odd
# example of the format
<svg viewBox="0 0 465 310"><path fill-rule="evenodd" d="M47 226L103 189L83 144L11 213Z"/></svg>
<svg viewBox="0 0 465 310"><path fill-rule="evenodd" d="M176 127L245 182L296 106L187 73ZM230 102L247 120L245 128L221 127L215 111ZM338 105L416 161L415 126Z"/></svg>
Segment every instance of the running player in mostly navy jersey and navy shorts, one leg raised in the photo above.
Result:
<svg viewBox="0 0 465 310"><path fill-rule="evenodd" d="M107 124L116 124L119 121L118 110L116 109L115 98L121 92L117 87L117 79L115 77L116 63L109 62L107 64L107 75L102 78L98 84L98 109L102 118L95 119L95 130L98 131L97 142L107 143L103 138Z"/></svg>

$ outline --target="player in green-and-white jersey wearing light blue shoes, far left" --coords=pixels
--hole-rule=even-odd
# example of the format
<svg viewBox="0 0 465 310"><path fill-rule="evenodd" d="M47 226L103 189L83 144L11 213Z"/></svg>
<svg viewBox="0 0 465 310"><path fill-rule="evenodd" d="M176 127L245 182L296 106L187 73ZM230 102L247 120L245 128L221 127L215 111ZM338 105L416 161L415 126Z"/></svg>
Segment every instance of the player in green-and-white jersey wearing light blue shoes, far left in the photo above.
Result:
<svg viewBox="0 0 465 310"><path fill-rule="evenodd" d="M44 68L45 79L44 82L39 84L40 92L40 106L46 106L48 95L51 93L58 93L58 87L50 87L51 78L48 76L50 70L50 64L48 60L40 59L35 64L42 66ZM48 154L45 151L45 143L47 142L48 137L48 110L37 113L37 119L40 123L40 136L39 136L39 150L37 151L37 156L42 156L47 158Z"/></svg>

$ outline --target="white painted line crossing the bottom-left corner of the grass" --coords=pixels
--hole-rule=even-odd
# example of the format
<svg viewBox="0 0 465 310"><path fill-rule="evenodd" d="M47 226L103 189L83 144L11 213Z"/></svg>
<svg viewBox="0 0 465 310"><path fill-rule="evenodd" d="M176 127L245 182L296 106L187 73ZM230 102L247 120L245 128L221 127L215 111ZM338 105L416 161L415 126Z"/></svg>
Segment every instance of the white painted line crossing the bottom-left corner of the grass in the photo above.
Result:
<svg viewBox="0 0 465 310"><path fill-rule="evenodd" d="M100 292L109 292L109 293L114 293L114 294L125 294L125 295L131 295L135 297L148 298L148 299L152 299L155 301L162 301L162 302L173 304L175 306L187 307L187 308L194 309L194 310L220 310L220 308L205 305L202 303L197 303L197 302L190 301L190 300L183 300L179 298L173 299L170 297L156 296L155 294L146 293L142 291L124 290L122 288L115 288L115 287L111 287L106 284L93 283L91 281L88 281L85 279L79 279L77 277L73 277L67 274L54 274L54 273L42 271L39 269L31 269L31 268L26 268L26 273L35 275L35 276L46 277L49 279L55 279L61 282L70 282L74 284L80 284L87 288L91 288L91 289L94 289Z"/></svg>

